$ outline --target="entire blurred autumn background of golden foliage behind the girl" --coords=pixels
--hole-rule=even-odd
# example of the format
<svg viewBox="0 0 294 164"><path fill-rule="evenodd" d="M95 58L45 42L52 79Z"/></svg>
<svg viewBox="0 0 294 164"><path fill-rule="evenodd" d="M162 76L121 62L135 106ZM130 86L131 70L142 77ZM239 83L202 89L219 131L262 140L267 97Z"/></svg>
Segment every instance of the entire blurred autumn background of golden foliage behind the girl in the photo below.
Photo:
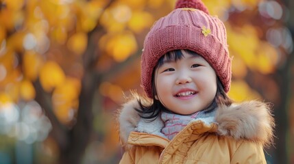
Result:
<svg viewBox="0 0 294 164"><path fill-rule="evenodd" d="M236 102L272 102L268 163L294 163L294 1L204 0L227 27ZM115 117L175 0L1 0L0 163L118 163Z"/></svg>

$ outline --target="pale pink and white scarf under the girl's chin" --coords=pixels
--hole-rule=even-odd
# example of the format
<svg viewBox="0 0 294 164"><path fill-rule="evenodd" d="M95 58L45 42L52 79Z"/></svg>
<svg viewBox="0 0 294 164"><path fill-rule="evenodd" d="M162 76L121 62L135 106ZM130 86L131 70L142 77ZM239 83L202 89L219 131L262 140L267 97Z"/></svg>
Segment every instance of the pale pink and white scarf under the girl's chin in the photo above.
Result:
<svg viewBox="0 0 294 164"><path fill-rule="evenodd" d="M162 112L161 119L164 122L164 127L161 132L167 136L169 140L173 139L177 133L182 131L191 120L194 120L199 112L191 115L178 115L175 113Z"/></svg>

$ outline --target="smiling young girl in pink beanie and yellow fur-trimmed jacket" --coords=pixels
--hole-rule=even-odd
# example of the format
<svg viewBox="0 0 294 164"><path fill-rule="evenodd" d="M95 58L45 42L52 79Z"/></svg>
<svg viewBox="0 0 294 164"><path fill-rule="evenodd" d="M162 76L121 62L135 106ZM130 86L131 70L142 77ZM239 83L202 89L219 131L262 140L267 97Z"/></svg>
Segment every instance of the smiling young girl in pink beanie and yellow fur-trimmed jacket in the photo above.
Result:
<svg viewBox="0 0 294 164"><path fill-rule="evenodd" d="M142 86L119 115L121 163L266 163L269 105L233 103L225 26L201 1L177 1L147 34Z"/></svg>

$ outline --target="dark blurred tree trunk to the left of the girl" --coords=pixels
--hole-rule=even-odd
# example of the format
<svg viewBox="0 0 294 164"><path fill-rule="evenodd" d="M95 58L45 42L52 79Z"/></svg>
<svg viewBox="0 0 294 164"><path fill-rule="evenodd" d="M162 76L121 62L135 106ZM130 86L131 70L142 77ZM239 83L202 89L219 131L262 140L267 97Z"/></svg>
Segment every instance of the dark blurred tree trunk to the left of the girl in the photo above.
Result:
<svg viewBox="0 0 294 164"><path fill-rule="evenodd" d="M69 146L60 153L60 164L81 163L93 131L93 98L97 86L95 72L85 72L79 94L77 122L69 131Z"/></svg>

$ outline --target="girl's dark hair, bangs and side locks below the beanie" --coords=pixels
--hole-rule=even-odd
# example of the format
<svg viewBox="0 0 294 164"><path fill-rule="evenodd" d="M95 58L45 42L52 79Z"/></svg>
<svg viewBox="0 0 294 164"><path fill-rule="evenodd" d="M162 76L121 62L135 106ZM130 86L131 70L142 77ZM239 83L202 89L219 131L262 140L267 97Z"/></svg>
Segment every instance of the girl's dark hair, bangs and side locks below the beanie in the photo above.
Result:
<svg viewBox="0 0 294 164"><path fill-rule="evenodd" d="M190 51L190 50L184 50L184 51L186 51L190 55L198 55L194 51ZM154 76L155 76L155 70L158 67L162 66L162 64L164 64L164 59L171 60L171 61L177 61L178 59L182 59L182 57L184 57L182 51L175 50L175 51L170 51L169 53L166 53L165 55L160 57L160 59L158 59L158 64L154 68L154 70L152 72L152 77L151 77L152 78L151 81L152 81L153 103L149 106L145 106L140 101L140 99L138 99L140 109L136 109L136 111L138 111L141 118L150 119L152 121L152 120L155 120L156 118L158 118L158 116L160 115L160 113L162 111L168 112L168 113L173 113L172 111L167 109L167 107L164 107L164 105L162 105L160 100L156 100L155 96L157 93L156 93L156 85L155 85ZM206 113L209 113L210 111L212 111L213 109L215 109L217 107L220 107L223 105L230 106L232 104L232 102L233 101L225 93L225 90L223 89L223 85L221 84L221 81L217 77L217 93L215 94L215 98L212 100L212 103L206 109L204 109L204 111Z"/></svg>

